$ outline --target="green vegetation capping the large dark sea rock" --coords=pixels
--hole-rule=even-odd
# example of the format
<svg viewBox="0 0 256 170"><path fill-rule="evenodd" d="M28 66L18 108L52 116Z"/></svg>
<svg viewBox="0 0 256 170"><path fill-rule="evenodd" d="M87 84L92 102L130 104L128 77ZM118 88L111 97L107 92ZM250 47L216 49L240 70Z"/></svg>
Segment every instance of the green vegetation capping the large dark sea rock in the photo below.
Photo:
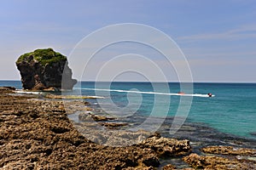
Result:
<svg viewBox="0 0 256 170"><path fill-rule="evenodd" d="M16 64L30 59L31 56L33 57L33 59L38 60L38 62L41 65L47 65L47 64L51 65L52 63L55 63L61 60L67 61L66 56L55 52L52 48L46 48L46 49L36 49L31 53L20 55L20 58L16 61Z"/></svg>

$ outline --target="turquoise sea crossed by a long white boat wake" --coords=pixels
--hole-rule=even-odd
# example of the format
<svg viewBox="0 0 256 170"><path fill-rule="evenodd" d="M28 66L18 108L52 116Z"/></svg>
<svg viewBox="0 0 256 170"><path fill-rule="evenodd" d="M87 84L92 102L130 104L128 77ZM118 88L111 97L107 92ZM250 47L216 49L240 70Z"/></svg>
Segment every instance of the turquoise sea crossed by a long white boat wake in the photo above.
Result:
<svg viewBox="0 0 256 170"><path fill-rule="evenodd" d="M0 86L22 88L20 81L0 81ZM191 94L187 94L187 87L191 88L185 84L181 90L177 82L169 82L167 86L161 82L80 82L73 92L64 94L102 96L104 99L89 99L96 111L103 110L135 126L147 120L148 116L164 119L158 131L166 136L171 135L168 127L171 127L183 100L187 108L187 100L191 99L187 114L187 110L183 113L183 106L180 106L182 113L178 116L183 116L185 122L176 136L256 141L256 83L195 82L192 93L189 91ZM185 94L177 94L180 91ZM212 97L207 95L209 93ZM154 119L151 122L154 125Z"/></svg>

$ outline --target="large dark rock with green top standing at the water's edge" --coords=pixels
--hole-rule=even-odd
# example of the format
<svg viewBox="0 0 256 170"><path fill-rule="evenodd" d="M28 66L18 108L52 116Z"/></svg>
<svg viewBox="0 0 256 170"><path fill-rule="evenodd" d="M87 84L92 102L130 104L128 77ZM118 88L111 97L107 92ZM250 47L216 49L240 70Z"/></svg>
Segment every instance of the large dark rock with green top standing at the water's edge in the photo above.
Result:
<svg viewBox="0 0 256 170"><path fill-rule="evenodd" d="M77 82L72 79L67 57L56 53L52 48L23 54L17 59L16 65L24 89L72 89Z"/></svg>

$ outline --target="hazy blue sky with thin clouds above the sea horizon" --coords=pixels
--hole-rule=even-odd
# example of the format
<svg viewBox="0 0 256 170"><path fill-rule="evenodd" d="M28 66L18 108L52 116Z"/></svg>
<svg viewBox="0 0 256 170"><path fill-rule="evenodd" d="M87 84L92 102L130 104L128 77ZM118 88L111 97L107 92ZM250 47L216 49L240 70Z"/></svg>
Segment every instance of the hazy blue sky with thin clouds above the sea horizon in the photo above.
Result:
<svg viewBox="0 0 256 170"><path fill-rule="evenodd" d="M81 59L69 58L78 43L92 32L106 26L137 23L154 27L176 42L189 63L194 82L256 82L255 18L253 0L1 1L0 80L20 80L15 60L21 54L37 48L54 48L68 57L73 77L79 80L94 80L96 72L111 59L132 53L138 58L126 56L113 62L113 66L137 63L147 74L117 74L118 80L144 81L143 77L151 74L150 64L139 62L143 54L158 65L168 81L177 82L180 73L175 66L166 64L164 57L152 48L138 43L110 45L103 54L102 51L96 54L90 70L84 73ZM101 41L98 37L96 42ZM154 73L151 76L158 77Z"/></svg>

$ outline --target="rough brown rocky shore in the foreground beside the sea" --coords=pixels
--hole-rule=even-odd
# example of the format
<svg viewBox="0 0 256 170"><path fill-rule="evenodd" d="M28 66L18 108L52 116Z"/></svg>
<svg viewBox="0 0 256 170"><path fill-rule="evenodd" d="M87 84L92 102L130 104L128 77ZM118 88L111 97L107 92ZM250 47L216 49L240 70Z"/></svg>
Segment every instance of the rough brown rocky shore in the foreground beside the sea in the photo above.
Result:
<svg viewBox="0 0 256 170"><path fill-rule="evenodd" d="M256 169L256 150L207 146L195 154L189 140L163 138L160 133L126 147L96 144L77 130L61 99L13 90L0 88L0 169L177 169L162 165L161 159L182 159L187 163L183 169ZM88 117L102 127L119 127L108 122L111 117L93 115L89 108L80 115Z"/></svg>

